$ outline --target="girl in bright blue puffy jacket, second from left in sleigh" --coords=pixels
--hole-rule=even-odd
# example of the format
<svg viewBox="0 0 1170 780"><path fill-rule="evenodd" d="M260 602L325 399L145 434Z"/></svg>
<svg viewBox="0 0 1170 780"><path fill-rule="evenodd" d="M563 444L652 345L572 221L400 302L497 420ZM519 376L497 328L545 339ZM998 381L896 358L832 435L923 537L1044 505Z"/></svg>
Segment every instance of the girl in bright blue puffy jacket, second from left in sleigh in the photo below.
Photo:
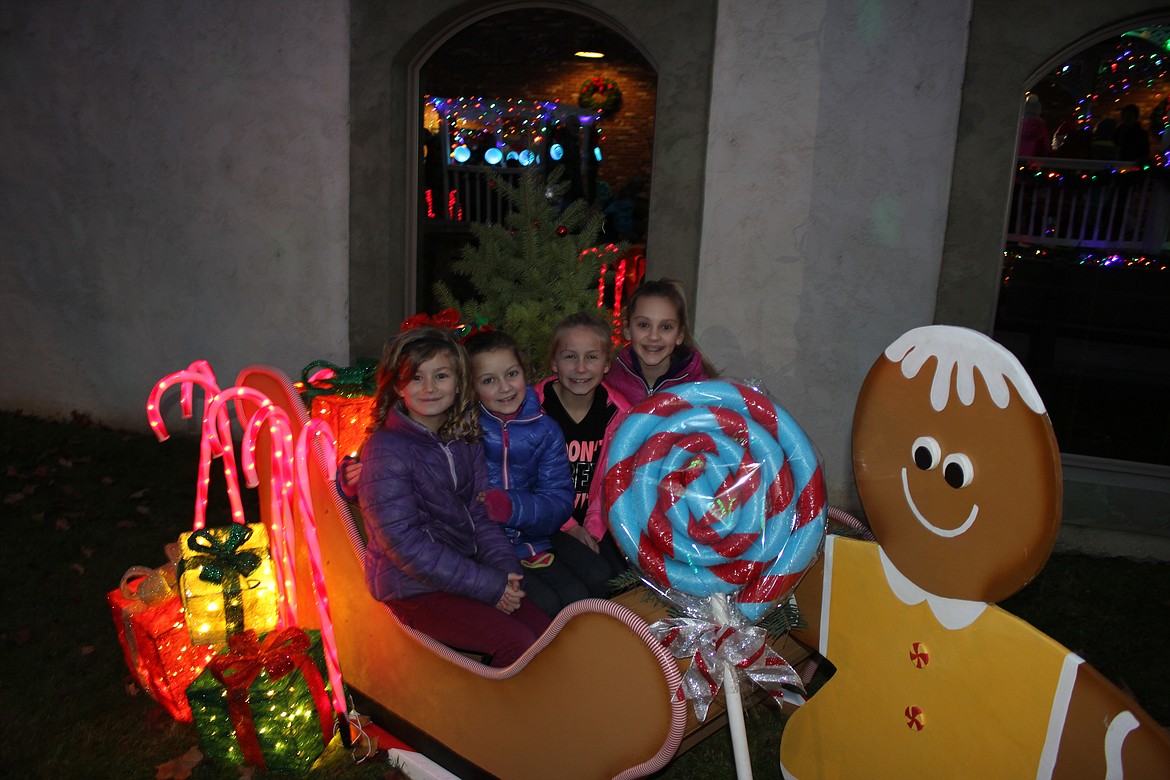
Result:
<svg viewBox="0 0 1170 780"><path fill-rule="evenodd" d="M560 426L541 410L516 341L502 331L464 340L480 398L490 489L483 505L504 527L525 568L524 591L546 615L608 592L610 565L560 531L576 490Z"/></svg>

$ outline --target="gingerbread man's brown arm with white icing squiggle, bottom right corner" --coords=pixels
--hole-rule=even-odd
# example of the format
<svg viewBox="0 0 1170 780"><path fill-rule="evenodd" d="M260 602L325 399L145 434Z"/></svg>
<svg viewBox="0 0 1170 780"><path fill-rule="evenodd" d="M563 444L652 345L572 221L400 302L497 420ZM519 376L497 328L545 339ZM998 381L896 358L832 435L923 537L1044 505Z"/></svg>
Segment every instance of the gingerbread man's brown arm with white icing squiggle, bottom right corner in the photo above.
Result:
<svg viewBox="0 0 1170 780"><path fill-rule="evenodd" d="M1053 779L1154 780L1168 772L1170 734L1101 672L1080 664Z"/></svg>

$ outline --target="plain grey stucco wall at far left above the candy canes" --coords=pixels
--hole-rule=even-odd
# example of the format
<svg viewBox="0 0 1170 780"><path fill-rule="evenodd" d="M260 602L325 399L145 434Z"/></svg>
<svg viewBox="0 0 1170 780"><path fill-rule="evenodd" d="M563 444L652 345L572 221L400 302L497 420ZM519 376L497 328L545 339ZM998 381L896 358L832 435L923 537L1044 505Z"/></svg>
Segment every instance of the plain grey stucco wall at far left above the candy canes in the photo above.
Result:
<svg viewBox="0 0 1170 780"><path fill-rule="evenodd" d="M346 359L346 7L0 2L0 408Z"/></svg>

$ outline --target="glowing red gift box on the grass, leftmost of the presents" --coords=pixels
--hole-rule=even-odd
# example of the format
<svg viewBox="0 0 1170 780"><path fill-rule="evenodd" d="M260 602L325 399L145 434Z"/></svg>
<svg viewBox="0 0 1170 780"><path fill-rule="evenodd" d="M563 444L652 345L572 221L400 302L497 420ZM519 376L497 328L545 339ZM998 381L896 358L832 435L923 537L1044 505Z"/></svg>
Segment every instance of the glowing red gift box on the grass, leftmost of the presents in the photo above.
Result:
<svg viewBox="0 0 1170 780"><path fill-rule="evenodd" d="M215 649L191 642L179 595L171 589L159 593L152 577L125 582L110 591L106 600L126 665L138 686L176 720L191 723L187 685L207 668Z"/></svg>

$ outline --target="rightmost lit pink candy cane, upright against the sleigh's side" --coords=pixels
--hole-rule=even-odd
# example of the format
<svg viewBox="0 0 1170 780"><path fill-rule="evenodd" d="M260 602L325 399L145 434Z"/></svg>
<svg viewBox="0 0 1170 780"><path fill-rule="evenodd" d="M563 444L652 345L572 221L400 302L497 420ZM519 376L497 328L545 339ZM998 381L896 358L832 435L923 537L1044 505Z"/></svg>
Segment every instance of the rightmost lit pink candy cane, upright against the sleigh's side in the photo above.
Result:
<svg viewBox="0 0 1170 780"><path fill-rule="evenodd" d="M342 689L342 665L337 657L337 640L333 639L333 619L329 613L329 593L325 589L325 570L322 565L321 544L317 541L317 516L312 510L312 491L309 488L309 443L321 447L318 461L325 468L329 482L337 478L337 448L333 430L324 420L310 420L301 428L296 441L296 497L301 505L301 531L309 548L309 568L312 571L312 588L317 594L317 616L321 619L321 643L325 650L325 668L329 684L333 689L333 710L345 715L345 693Z"/></svg>

